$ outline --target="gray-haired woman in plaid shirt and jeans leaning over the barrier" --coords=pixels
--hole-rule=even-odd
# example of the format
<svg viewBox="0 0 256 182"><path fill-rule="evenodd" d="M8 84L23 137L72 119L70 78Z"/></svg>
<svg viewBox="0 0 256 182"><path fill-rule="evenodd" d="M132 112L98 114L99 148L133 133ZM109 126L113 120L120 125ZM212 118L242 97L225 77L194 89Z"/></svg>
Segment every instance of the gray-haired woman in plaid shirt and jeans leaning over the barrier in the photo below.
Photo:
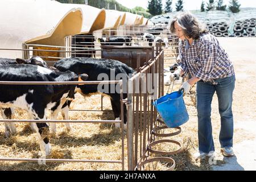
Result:
<svg viewBox="0 0 256 182"><path fill-rule="evenodd" d="M233 156L233 114L232 100L235 84L234 68L228 54L218 40L201 26L191 13L181 13L171 22L171 32L180 38L179 67L171 74L174 81L190 73L184 82L184 94L196 84L199 152L196 159L214 155L212 123L210 119L213 94L218 97L221 117L220 144L224 156Z"/></svg>

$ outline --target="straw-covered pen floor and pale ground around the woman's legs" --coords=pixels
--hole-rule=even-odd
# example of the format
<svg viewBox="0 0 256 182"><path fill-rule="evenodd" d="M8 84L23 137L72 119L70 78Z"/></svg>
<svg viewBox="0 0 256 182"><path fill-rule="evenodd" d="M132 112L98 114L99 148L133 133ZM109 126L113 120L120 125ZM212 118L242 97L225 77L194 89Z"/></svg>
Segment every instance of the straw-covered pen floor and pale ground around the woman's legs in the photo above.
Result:
<svg viewBox="0 0 256 182"><path fill-rule="evenodd" d="M208 160L194 160L192 154L197 151L197 113L191 98L185 97L189 121L181 126L182 133L173 137L181 144L180 154L170 156L176 162L175 170L256 170L256 39L255 38L218 38L222 47L228 52L236 72L234 90L234 152L233 158L223 158L220 153L218 134L220 115L217 97L212 102L213 137L216 147L216 165ZM168 86L165 86L166 92ZM178 89L178 88L174 88ZM84 100L79 94L72 104L73 109L100 109L99 95ZM111 109L109 98L104 97L104 109ZM26 118L23 111L16 111L15 118ZM113 113L104 112L70 112L71 119L114 119ZM62 119L61 115L59 119ZM4 125L0 123L0 156L10 158L37 158L39 146L36 134L25 123L16 123L18 133L6 139ZM63 124L57 124L57 134L51 138L53 152L49 158L65 159L121 159L120 131L112 125L72 124L73 131L65 132ZM166 131L168 133L168 131ZM125 140L126 142L126 140ZM167 150L172 146L159 146ZM125 151L127 149L125 148ZM127 155L125 155L127 160ZM126 161L127 162L127 161ZM48 163L38 166L36 163L0 162L0 170L120 170L120 164L105 163ZM126 168L125 168L126 169ZM156 167L151 170L162 170Z"/></svg>

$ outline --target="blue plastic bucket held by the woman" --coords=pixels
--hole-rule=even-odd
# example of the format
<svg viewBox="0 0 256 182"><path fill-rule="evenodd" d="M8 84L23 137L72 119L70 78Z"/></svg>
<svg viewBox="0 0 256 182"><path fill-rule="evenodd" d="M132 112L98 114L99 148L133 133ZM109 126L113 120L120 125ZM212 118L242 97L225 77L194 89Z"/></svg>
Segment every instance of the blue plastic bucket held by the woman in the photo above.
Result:
<svg viewBox="0 0 256 182"><path fill-rule="evenodd" d="M183 100L183 92L172 92L153 102L167 127L177 127L188 121L188 112Z"/></svg>

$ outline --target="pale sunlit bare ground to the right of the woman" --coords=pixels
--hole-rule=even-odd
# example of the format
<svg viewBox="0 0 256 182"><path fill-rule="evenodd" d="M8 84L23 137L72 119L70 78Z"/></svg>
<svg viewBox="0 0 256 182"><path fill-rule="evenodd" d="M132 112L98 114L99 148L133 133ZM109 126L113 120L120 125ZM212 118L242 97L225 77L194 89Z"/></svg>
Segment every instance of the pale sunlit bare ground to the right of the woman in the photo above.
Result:
<svg viewBox="0 0 256 182"><path fill-rule="evenodd" d="M213 170L256 170L256 38L218 38L233 61L236 88L233 98L234 153L220 157ZM217 142L217 140L216 140Z"/></svg>

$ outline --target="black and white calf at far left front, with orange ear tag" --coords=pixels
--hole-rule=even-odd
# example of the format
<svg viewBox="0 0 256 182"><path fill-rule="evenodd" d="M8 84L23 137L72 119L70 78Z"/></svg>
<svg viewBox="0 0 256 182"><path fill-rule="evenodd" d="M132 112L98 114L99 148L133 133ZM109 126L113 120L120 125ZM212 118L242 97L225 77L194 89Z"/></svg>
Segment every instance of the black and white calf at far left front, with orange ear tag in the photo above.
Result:
<svg viewBox="0 0 256 182"><path fill-rule="evenodd" d="M80 75L86 80L87 75ZM75 73L55 72L36 65L1 65L0 81L78 81ZM1 85L0 108L27 110L28 119L46 119L47 109L56 107L59 113L61 104L74 98L76 85ZM32 123L38 134L42 158L51 153L46 123Z"/></svg>

